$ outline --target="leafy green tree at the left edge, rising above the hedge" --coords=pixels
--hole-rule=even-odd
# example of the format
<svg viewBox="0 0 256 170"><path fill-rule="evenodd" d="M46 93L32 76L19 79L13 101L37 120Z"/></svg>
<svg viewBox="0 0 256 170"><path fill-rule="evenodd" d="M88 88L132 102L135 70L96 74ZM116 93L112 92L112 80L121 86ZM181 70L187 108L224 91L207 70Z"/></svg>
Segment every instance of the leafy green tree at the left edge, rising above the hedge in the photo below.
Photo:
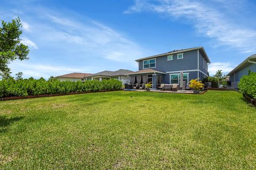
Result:
<svg viewBox="0 0 256 170"><path fill-rule="evenodd" d="M28 60L28 46L21 43L20 18L13 19L12 22L2 21L0 27L0 72L3 77L9 77L11 70L8 67L10 62L19 59Z"/></svg>

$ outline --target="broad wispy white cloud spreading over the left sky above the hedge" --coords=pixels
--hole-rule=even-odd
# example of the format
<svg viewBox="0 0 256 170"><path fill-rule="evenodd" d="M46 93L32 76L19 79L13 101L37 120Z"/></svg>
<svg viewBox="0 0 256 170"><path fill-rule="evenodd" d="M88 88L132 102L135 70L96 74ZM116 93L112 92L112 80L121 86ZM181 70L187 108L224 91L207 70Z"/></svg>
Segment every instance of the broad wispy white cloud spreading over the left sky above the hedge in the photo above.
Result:
<svg viewBox="0 0 256 170"><path fill-rule="evenodd" d="M129 37L86 16L35 6L29 12L26 8L19 11L18 14L9 10L5 17L10 19L19 15L23 30L26 30L22 33L22 43L37 49L30 50L27 65L10 65L13 73L22 71L24 77L137 70L134 60L145 56L145 50Z"/></svg>

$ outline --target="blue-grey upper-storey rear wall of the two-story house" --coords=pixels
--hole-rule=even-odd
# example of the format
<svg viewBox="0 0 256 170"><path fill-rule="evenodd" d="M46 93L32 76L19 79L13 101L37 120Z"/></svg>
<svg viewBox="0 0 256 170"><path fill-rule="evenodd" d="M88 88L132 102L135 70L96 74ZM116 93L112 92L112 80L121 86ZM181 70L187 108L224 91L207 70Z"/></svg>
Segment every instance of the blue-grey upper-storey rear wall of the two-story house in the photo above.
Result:
<svg viewBox="0 0 256 170"><path fill-rule="evenodd" d="M167 55L156 57L156 67L152 69L163 72L195 70L197 69L197 50L184 52L181 59L177 59L177 54L173 54L173 60L170 61L167 61ZM143 60L139 61L139 70L143 70Z"/></svg>

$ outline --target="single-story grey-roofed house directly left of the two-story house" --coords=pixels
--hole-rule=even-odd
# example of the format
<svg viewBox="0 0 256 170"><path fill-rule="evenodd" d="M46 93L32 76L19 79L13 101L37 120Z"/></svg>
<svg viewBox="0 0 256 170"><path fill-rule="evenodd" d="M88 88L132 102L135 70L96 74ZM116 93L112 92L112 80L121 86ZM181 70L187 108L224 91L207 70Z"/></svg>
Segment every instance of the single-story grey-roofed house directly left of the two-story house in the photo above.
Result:
<svg viewBox="0 0 256 170"><path fill-rule="evenodd" d="M131 70L117 70L117 71L102 71L99 73L87 75L85 77L86 80L98 80L101 81L103 79L116 79L122 81L123 84L129 83L130 79L127 74L133 73Z"/></svg>

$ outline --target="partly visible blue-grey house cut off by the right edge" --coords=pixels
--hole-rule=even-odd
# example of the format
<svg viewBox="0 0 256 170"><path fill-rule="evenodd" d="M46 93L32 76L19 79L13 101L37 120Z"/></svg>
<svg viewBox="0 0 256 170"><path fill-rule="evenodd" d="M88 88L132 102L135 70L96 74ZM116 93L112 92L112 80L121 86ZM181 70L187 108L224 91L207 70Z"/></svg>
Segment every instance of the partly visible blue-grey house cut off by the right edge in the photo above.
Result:
<svg viewBox="0 0 256 170"><path fill-rule="evenodd" d="M229 76L232 88L238 88L240 79L243 77L243 75L248 75L248 70L256 72L256 54L246 58L245 61L227 74Z"/></svg>

